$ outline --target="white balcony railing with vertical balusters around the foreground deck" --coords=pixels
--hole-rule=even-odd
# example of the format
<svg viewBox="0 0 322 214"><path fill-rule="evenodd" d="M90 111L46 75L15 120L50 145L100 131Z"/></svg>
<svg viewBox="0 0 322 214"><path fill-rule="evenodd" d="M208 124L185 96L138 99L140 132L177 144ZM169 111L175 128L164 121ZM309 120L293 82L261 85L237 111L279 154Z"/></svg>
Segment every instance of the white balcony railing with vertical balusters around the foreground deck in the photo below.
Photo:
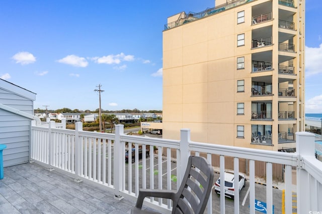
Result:
<svg viewBox="0 0 322 214"><path fill-rule="evenodd" d="M166 140L124 135L123 125L116 126L116 134L88 132L82 123L75 130L58 129L54 122L49 127L32 126L31 159L49 169L71 174L76 181L92 182L115 193L116 198L136 200L138 189L177 189L184 174L189 155L202 155L212 166L218 167L220 179L228 159L233 162L235 172L234 213L239 213L238 171L241 160L248 160L250 182L249 212L255 213L255 178L257 161L265 163L267 213L273 213L273 173L276 164L285 170L285 213L292 213L292 167L297 171L297 212L309 213L322 210L322 163L314 157L314 135L296 133L297 153L275 152L233 146L223 146L190 140L190 130L181 130L181 140ZM125 149L141 148L143 154L149 150L154 158L142 155L139 162L135 149L135 162L125 162ZM157 153L154 151L157 149ZM131 160L131 152L128 159ZM228 159L227 159L228 158ZM157 161L155 166L154 161ZM226 162L226 164L225 164ZM166 178L165 178L166 177ZM222 186L223 188L223 186ZM223 192L223 189L221 189ZM212 213L210 195L207 213ZM164 213L170 213L171 202L150 198L145 204ZM220 213L225 213L225 196L220 195Z"/></svg>

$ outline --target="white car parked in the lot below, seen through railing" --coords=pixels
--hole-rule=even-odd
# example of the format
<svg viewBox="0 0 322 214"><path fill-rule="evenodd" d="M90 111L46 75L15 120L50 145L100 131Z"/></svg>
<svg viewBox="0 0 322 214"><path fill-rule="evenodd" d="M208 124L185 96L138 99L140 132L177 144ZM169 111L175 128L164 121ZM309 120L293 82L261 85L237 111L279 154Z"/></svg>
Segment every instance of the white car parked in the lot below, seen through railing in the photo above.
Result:
<svg viewBox="0 0 322 214"><path fill-rule="evenodd" d="M239 173L239 192L241 188L246 185L246 177L244 174ZM235 195L235 187L234 187L234 172L233 171L225 171L225 195L229 196L231 199L234 198ZM220 177L217 179L215 183L215 192L220 194Z"/></svg>

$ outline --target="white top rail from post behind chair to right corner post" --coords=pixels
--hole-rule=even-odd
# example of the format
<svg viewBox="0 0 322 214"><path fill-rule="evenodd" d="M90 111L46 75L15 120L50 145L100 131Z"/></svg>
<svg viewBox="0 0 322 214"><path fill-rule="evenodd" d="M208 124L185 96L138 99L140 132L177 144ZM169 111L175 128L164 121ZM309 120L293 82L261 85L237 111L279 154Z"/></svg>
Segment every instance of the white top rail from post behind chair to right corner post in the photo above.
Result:
<svg viewBox="0 0 322 214"><path fill-rule="evenodd" d="M297 166L297 153L281 153L278 151L268 151L262 149L243 148L236 146L223 146L209 143L191 142L190 149L193 151L233 156L265 162L280 163Z"/></svg>

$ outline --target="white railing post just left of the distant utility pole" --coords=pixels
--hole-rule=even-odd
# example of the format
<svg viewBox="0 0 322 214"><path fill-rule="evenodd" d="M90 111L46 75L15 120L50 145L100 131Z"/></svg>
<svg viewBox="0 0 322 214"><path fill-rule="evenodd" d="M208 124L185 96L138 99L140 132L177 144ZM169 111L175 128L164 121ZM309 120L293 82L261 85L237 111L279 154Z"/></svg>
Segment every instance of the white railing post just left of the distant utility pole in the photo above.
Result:
<svg viewBox="0 0 322 214"><path fill-rule="evenodd" d="M79 131L83 131L83 123L77 122L75 123L75 179L74 181L79 183L82 182L81 179L79 179L79 176L81 175L81 146L83 146L82 139L79 137Z"/></svg>

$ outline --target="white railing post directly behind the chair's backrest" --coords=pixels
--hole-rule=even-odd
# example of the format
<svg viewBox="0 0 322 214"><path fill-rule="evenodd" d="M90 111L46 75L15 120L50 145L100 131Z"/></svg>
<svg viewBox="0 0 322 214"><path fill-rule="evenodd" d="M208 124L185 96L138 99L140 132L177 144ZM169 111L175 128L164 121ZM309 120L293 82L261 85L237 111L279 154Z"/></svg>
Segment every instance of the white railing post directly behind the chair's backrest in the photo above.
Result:
<svg viewBox="0 0 322 214"><path fill-rule="evenodd" d="M190 129L181 129L180 130L180 183L182 182L183 176L185 175L185 171L188 164L188 159L190 156L190 149L189 149L189 142L190 142Z"/></svg>

